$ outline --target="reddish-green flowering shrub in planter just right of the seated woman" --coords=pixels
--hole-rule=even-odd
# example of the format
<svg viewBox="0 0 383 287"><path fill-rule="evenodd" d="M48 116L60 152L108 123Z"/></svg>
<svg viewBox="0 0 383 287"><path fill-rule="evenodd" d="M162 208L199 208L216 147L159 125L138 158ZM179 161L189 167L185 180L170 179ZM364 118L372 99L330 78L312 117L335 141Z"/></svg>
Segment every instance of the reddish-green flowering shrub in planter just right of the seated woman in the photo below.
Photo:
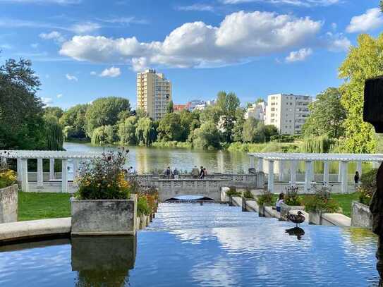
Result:
<svg viewBox="0 0 383 287"><path fill-rule="evenodd" d="M339 204L331 198L331 190L325 186L320 189L315 188L315 195L305 198L306 212L338 212Z"/></svg>

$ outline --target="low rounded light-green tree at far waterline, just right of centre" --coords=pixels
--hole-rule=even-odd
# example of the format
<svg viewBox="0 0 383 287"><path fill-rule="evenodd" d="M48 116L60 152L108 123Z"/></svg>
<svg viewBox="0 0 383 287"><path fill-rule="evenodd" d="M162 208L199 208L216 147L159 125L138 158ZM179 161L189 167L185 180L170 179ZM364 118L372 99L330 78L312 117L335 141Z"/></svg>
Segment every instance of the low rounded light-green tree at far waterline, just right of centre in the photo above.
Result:
<svg viewBox="0 0 383 287"><path fill-rule="evenodd" d="M221 147L221 134L217 125L212 121L202 123L200 128L194 130L193 146L203 149L219 149Z"/></svg>

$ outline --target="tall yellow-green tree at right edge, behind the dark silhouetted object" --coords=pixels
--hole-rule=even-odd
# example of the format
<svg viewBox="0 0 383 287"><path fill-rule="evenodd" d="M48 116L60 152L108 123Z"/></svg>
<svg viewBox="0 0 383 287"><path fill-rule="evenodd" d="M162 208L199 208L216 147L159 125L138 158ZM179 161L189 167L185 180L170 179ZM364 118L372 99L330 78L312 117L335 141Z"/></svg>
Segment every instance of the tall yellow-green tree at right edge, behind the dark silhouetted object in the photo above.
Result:
<svg viewBox="0 0 383 287"><path fill-rule="evenodd" d="M351 47L346 60L339 67L339 77L346 80L341 86L341 104L346 109L344 120L346 152L375 152L375 130L363 121L365 80L383 73L383 34L377 39L360 35L358 46Z"/></svg>

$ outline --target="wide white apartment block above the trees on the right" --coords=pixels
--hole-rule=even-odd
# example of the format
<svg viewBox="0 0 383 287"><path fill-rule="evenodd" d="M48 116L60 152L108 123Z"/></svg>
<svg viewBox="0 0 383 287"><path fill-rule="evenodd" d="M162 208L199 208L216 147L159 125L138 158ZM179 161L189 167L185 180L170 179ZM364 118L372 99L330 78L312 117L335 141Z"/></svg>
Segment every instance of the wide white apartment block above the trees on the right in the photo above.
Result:
<svg viewBox="0 0 383 287"><path fill-rule="evenodd" d="M270 94L267 97L266 125L274 125L281 135L300 135L310 115L310 96Z"/></svg>

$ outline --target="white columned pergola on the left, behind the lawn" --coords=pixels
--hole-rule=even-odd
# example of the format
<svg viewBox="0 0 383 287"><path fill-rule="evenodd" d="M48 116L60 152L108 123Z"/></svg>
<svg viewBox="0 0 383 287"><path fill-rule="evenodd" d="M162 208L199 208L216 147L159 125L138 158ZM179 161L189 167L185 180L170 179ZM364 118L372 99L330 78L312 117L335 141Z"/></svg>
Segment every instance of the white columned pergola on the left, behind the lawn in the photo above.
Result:
<svg viewBox="0 0 383 287"><path fill-rule="evenodd" d="M101 152L66 152L46 150L0 150L1 163L17 159L18 181L23 191L29 191L28 159L37 159L37 185L43 185L42 160L49 159L49 181L54 180L54 160L61 159L61 191L68 192L68 159L73 161L73 172L78 173L80 161L100 157Z"/></svg>

